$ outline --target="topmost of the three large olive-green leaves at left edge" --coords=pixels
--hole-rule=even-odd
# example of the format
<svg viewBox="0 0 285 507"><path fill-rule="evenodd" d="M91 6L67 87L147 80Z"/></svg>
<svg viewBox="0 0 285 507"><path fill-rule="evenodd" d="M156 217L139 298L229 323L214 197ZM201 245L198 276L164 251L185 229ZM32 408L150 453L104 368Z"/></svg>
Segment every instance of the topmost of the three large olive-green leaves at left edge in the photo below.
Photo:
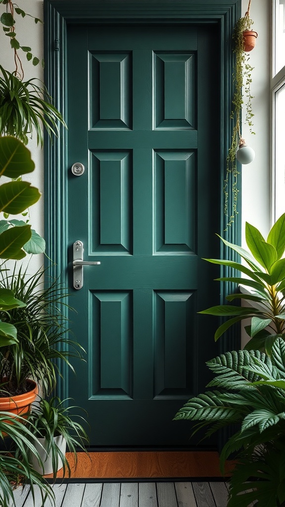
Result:
<svg viewBox="0 0 285 507"><path fill-rule="evenodd" d="M24 144L16 137L0 137L0 176L18 178L33 170L34 162Z"/></svg>

